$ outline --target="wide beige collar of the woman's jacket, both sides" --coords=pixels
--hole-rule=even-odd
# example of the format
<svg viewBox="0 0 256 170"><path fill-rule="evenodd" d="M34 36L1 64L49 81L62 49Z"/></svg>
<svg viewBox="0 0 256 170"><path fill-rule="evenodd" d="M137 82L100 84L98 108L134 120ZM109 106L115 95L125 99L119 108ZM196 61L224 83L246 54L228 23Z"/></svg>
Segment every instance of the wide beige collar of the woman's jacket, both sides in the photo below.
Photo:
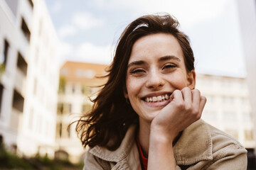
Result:
<svg viewBox="0 0 256 170"><path fill-rule="evenodd" d="M119 162L127 157L135 143L135 130L137 126L132 125L122 140L120 147L110 151L105 147L93 147L90 153L108 162ZM213 142L210 137L208 125L203 120L198 120L183 130L181 137L174 146L176 164L190 165L203 160L213 159ZM139 154L139 152L138 152Z"/></svg>

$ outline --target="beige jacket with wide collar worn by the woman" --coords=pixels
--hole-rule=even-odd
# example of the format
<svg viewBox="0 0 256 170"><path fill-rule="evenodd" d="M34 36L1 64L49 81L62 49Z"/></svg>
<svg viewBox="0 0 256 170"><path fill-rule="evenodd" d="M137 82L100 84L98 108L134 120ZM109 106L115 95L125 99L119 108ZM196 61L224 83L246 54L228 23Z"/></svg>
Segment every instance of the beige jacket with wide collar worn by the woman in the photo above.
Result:
<svg viewBox="0 0 256 170"><path fill-rule="evenodd" d="M141 169L139 151L134 140L135 130L135 126L127 130L122 144L115 151L97 146L89 149L83 170ZM233 137L203 120L183 130L174 146L176 170L243 170L247 169L246 153L246 149Z"/></svg>

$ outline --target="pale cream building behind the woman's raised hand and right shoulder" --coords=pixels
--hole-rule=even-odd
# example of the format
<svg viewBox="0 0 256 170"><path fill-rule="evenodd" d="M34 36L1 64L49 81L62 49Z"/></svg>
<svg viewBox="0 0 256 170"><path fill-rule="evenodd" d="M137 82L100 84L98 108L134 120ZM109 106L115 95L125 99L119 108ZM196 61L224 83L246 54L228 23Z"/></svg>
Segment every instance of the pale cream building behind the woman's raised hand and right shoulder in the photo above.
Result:
<svg viewBox="0 0 256 170"><path fill-rule="evenodd" d="M232 135L246 148L255 147L247 79L198 74L196 88L207 98L203 120Z"/></svg>

